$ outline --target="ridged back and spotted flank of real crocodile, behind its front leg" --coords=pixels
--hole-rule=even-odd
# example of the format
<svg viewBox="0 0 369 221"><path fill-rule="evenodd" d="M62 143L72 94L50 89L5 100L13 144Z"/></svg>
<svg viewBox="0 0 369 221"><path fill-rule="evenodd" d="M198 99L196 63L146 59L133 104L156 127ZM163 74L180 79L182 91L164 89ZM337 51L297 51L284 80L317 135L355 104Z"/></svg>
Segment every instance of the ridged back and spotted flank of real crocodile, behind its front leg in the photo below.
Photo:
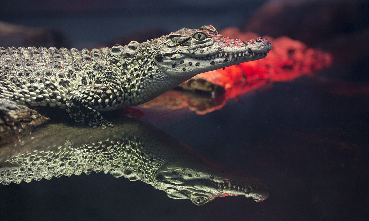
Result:
<svg viewBox="0 0 369 221"><path fill-rule="evenodd" d="M92 83L85 66L101 57L99 49L0 47L0 97L20 105L66 108L70 91Z"/></svg>

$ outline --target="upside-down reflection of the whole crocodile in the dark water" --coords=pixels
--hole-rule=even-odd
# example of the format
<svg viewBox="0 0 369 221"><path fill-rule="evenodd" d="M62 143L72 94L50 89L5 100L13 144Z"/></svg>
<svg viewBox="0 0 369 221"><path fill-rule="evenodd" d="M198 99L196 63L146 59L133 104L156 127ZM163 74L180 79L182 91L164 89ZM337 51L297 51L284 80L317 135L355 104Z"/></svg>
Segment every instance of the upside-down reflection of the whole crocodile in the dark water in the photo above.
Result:
<svg viewBox="0 0 369 221"><path fill-rule="evenodd" d="M219 196L269 196L256 178L200 156L158 128L137 120L114 128L51 124L17 143L0 148L0 183L30 182L73 173L104 171L142 180L174 199L201 205Z"/></svg>

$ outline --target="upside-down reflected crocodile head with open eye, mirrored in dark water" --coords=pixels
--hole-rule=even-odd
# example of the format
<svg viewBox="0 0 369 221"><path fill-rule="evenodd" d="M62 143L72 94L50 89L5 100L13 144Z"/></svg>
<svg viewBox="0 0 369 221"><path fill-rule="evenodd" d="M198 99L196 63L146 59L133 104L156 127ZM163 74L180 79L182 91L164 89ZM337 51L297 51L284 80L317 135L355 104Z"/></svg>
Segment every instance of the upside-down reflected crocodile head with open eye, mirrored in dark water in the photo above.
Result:
<svg viewBox="0 0 369 221"><path fill-rule="evenodd" d="M222 196L242 195L255 201L269 196L262 180L200 155L165 163L156 172L156 182L170 198L190 199L198 206Z"/></svg>

